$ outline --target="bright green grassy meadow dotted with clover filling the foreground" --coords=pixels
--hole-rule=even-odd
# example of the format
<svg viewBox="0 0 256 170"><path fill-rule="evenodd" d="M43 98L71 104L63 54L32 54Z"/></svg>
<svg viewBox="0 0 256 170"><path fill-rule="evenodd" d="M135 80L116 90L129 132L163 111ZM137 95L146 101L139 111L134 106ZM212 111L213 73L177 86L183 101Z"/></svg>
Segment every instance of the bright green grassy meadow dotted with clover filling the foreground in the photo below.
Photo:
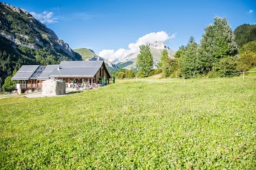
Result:
<svg viewBox="0 0 256 170"><path fill-rule="evenodd" d="M0 169L255 169L256 77L0 99Z"/></svg>

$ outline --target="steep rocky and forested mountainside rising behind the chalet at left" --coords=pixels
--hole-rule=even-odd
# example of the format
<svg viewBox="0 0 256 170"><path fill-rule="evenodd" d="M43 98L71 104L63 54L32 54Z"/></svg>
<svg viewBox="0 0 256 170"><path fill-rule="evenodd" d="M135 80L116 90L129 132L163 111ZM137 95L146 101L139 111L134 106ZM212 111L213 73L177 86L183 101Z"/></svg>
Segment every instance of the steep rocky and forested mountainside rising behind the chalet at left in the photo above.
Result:
<svg viewBox="0 0 256 170"><path fill-rule="evenodd" d="M24 64L59 64L82 60L47 26L24 9L0 2L0 84Z"/></svg>

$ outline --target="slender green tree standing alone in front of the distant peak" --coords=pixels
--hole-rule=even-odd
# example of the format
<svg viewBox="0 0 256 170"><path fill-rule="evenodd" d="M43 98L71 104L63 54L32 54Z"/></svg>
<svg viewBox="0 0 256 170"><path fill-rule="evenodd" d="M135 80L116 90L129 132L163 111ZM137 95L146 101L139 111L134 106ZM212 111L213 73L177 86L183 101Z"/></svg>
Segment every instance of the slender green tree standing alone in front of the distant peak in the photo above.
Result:
<svg viewBox="0 0 256 170"><path fill-rule="evenodd" d="M153 68L153 56L149 46L140 46L140 54L137 56L136 66L141 76L148 76L148 73Z"/></svg>

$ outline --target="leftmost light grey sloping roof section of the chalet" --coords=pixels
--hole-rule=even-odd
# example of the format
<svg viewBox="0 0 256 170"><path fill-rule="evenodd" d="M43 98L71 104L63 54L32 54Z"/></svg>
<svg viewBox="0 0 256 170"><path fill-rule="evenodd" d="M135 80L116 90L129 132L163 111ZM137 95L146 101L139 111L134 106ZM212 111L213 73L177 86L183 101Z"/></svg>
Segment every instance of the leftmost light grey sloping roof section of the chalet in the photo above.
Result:
<svg viewBox="0 0 256 170"><path fill-rule="evenodd" d="M11 80L29 80L29 78L34 74L39 65L24 65L16 74L11 78Z"/></svg>

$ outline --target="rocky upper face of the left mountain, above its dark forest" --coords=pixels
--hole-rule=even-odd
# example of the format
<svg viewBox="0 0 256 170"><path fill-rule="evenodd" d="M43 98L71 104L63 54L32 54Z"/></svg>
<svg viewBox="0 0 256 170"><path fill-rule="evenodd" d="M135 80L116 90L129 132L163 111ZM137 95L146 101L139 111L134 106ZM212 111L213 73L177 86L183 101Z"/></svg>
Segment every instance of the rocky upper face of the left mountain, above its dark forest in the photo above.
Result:
<svg viewBox="0 0 256 170"><path fill-rule="evenodd" d="M54 31L34 19L28 11L9 4L0 3L0 36L12 41L16 46L39 50L47 48L63 54L70 60L81 60L81 56L58 39Z"/></svg>

